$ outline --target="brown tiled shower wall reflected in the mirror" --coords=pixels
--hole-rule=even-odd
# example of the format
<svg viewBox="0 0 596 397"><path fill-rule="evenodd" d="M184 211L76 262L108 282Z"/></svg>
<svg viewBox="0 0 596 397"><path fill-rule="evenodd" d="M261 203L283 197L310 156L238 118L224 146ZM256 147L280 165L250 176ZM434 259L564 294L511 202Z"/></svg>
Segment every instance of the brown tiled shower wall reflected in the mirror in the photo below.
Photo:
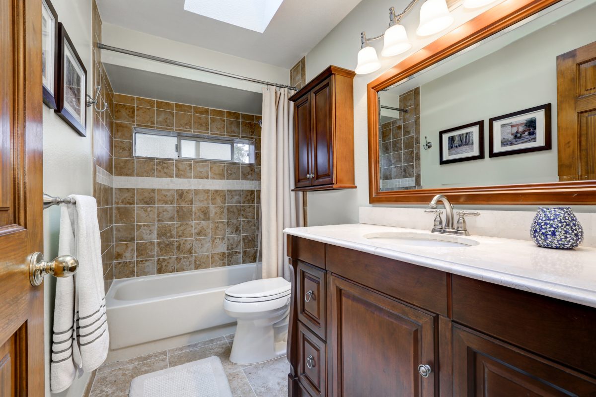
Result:
<svg viewBox="0 0 596 397"><path fill-rule="evenodd" d="M420 87L399 97L402 117L380 125L381 190L422 189L420 182Z"/></svg>

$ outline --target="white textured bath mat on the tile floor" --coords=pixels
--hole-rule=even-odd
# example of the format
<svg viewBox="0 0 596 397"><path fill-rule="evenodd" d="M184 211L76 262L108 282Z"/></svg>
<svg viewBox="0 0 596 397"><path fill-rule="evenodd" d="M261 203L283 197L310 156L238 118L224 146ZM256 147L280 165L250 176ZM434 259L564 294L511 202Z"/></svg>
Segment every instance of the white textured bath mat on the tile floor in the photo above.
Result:
<svg viewBox="0 0 596 397"><path fill-rule="evenodd" d="M232 397L218 357L136 377L129 397Z"/></svg>

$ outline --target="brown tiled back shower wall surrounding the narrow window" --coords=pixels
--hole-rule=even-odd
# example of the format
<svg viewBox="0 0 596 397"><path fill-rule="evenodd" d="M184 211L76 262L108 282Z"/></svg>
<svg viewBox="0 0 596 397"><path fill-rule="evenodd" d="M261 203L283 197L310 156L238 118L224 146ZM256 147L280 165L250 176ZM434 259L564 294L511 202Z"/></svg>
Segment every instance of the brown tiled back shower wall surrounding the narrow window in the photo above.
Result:
<svg viewBox="0 0 596 397"><path fill-rule="evenodd" d="M259 115L114 95L114 277L255 261ZM254 139L256 164L132 156L134 126Z"/></svg>

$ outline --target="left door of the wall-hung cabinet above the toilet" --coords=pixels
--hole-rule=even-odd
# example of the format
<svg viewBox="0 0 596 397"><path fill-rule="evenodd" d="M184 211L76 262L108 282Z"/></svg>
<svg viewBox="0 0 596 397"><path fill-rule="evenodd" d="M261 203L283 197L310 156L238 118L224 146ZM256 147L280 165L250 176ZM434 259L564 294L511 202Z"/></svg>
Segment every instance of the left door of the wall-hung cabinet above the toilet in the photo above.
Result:
<svg viewBox="0 0 596 397"><path fill-rule="evenodd" d="M311 186L311 96L307 93L294 107L294 181Z"/></svg>

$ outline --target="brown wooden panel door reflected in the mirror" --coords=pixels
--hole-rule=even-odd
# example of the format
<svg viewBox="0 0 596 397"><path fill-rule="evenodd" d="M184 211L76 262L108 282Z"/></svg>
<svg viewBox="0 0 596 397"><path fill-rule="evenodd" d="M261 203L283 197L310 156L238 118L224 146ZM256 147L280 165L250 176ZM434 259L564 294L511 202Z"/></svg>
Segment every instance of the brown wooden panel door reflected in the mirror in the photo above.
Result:
<svg viewBox="0 0 596 397"><path fill-rule="evenodd" d="M557 57L559 180L596 179L596 42Z"/></svg>

